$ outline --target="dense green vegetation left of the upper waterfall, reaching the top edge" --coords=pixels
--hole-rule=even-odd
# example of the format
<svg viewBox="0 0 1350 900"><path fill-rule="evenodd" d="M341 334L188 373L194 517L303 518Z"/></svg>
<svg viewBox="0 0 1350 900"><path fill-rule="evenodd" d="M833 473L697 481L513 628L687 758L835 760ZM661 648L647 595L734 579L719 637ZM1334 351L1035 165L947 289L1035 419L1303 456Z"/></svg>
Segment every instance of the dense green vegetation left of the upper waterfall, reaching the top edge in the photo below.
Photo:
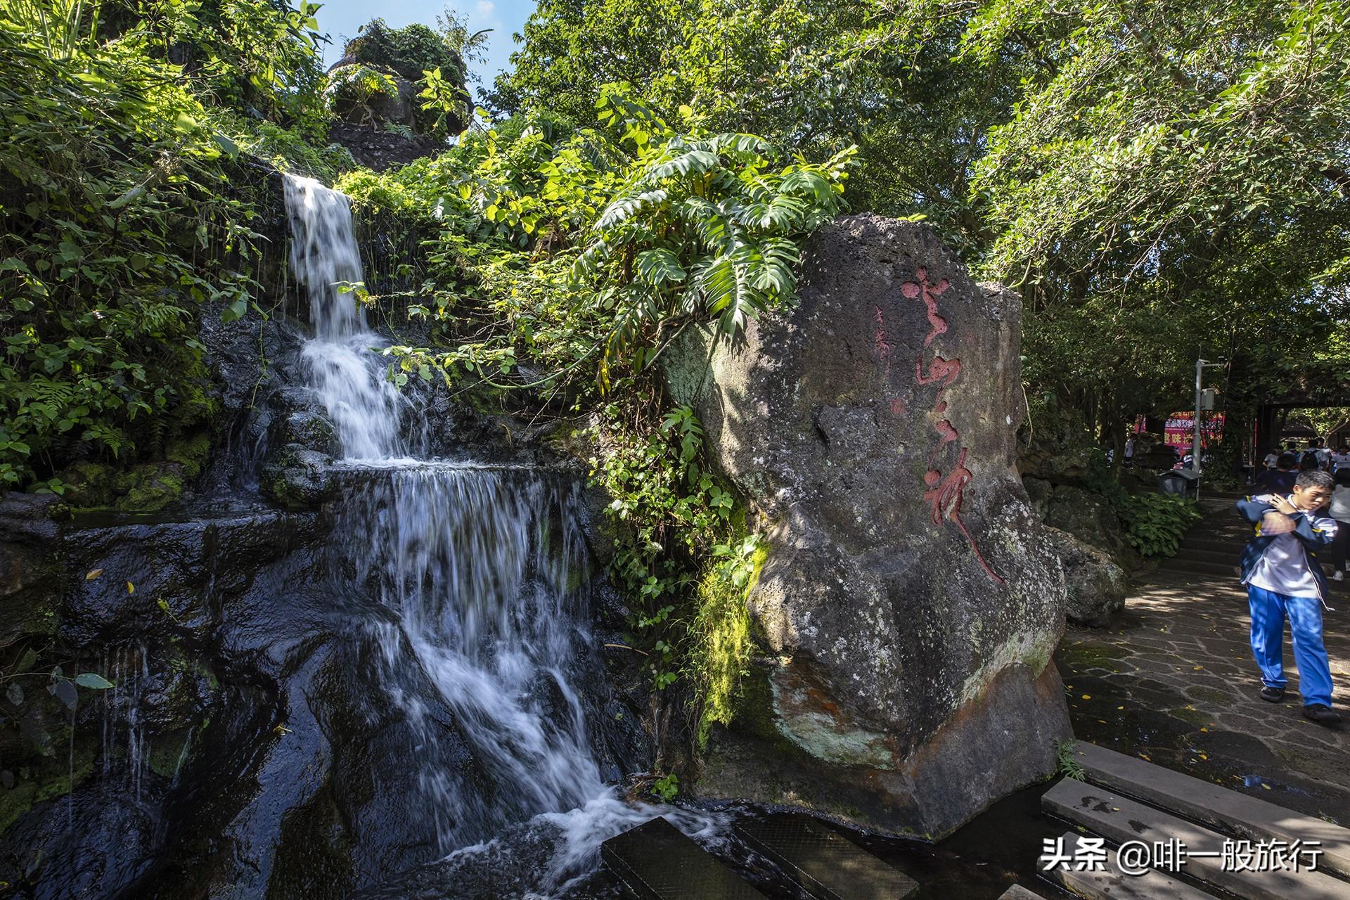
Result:
<svg viewBox="0 0 1350 900"><path fill-rule="evenodd" d="M34 0L0 18L0 483L85 456L130 461L209 426L201 304L250 301L238 152L202 100L301 124L313 20L256 4L162 4L113 26ZM180 38L200 82L166 59ZM232 124L232 123L231 123Z"/></svg>

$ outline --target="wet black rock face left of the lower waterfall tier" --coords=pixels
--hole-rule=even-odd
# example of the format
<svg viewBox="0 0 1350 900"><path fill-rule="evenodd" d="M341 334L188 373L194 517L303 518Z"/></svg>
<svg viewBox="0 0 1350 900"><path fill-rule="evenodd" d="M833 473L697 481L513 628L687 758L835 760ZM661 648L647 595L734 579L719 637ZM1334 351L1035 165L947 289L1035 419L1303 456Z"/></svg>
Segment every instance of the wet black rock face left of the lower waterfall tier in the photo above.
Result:
<svg viewBox="0 0 1350 900"><path fill-rule="evenodd" d="M428 702L441 734L427 746L389 703L386 665L436 692L410 653L383 657L378 627L352 627L392 614L335 591L324 536L313 514L265 511L77 524L46 545L93 573L69 579L54 637L117 687L81 695L74 793L16 788L0 878L22 884L40 854L31 896L340 897L440 855L436 811L408 797L424 772L474 762L448 710ZM68 835L68 816L88 834Z"/></svg>

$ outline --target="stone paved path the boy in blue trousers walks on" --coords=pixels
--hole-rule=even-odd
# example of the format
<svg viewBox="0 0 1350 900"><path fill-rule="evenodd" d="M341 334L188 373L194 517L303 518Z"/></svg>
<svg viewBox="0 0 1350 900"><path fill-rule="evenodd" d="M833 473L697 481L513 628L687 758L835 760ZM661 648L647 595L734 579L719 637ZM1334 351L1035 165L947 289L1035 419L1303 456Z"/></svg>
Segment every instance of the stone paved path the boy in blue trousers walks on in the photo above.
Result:
<svg viewBox="0 0 1350 900"><path fill-rule="evenodd" d="M1192 533L1231 540L1237 560L1246 532L1228 502L1210 506ZM1177 568L1142 576L1115 626L1065 631L1056 663L1077 737L1350 826L1350 727L1303 718L1288 634L1289 694L1266 703L1237 575ZM1330 603L1335 703L1350 718L1350 592L1336 586Z"/></svg>

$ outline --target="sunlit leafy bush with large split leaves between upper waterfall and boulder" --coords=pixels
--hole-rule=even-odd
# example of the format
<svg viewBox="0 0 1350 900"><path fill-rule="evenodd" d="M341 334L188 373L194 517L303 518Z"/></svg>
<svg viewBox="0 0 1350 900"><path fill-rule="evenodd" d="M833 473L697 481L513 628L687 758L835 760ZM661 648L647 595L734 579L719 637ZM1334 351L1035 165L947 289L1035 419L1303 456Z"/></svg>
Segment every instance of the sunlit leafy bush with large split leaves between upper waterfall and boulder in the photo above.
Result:
<svg viewBox="0 0 1350 900"><path fill-rule="evenodd" d="M841 209L852 151L813 163L753 135L682 134L625 85L601 103L605 131L521 116L340 182L358 205L420 206L440 228L414 312L474 340L390 348L405 372L509 386L528 360L549 386L590 374L609 391L686 325L733 337L792 302L798 243Z"/></svg>

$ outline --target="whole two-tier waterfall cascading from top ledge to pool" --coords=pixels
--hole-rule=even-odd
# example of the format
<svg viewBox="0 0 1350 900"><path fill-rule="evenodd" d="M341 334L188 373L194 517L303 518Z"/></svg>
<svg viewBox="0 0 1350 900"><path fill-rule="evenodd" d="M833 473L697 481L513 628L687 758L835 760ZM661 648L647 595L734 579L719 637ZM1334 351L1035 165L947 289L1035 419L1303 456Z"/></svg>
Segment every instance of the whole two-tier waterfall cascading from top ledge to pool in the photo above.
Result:
<svg viewBox="0 0 1350 900"><path fill-rule="evenodd" d="M674 814L622 803L593 749L586 695L601 675L578 587L589 563L576 488L536 470L417 459L425 441L408 433L420 417L373 349L386 341L355 294L336 287L362 279L347 198L288 177L286 204L315 328L305 371L343 448L333 568L397 614L369 629L382 690L420 742L409 762L423 766L421 796L409 803L431 810L441 853L547 822L559 846L540 887L556 887L605 837ZM424 683L454 729L428 708ZM455 757L450 743L473 764L436 762Z"/></svg>

